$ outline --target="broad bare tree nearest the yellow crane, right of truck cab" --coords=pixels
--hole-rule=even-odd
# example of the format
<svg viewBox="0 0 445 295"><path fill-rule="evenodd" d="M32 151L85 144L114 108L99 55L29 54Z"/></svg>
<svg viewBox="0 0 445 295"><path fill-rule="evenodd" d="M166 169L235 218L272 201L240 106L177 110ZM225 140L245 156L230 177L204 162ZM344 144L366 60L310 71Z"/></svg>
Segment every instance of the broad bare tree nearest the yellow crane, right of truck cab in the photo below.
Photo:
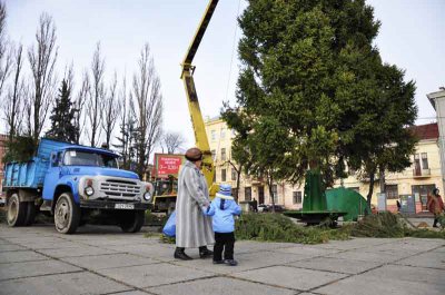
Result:
<svg viewBox="0 0 445 295"><path fill-rule="evenodd" d="M142 177L149 156L161 137L162 95L148 43L144 46L138 63L139 69L132 80L131 99L137 130L137 173Z"/></svg>

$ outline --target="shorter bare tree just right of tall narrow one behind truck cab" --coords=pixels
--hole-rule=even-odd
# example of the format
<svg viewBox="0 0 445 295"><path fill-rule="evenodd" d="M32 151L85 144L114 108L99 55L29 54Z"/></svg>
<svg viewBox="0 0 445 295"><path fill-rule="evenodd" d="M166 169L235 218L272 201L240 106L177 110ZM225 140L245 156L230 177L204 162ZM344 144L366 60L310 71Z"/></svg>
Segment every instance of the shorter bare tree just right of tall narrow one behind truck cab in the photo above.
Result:
<svg viewBox="0 0 445 295"><path fill-rule="evenodd" d="M102 101L102 129L105 131L107 147L110 147L111 134L115 129L116 120L118 118L118 101L116 98L117 85L118 77L115 71L115 77L110 85L108 96Z"/></svg>

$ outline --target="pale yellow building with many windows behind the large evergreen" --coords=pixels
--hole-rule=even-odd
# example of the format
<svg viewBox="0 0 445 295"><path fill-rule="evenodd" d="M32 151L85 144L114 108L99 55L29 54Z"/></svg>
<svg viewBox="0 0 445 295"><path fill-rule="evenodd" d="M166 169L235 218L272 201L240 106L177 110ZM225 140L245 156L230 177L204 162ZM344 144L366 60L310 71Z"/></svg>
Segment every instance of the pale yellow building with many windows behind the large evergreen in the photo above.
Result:
<svg viewBox="0 0 445 295"><path fill-rule="evenodd" d="M219 118L207 119L206 130L216 165L216 181L230 184L236 187L237 173L236 163L231 160L231 140L234 132L225 121ZM443 191L442 173L438 148L437 124L422 125L415 127L419 137L415 155L412 156L413 165L403 173L386 174L387 209L396 210L396 200L404 195L413 195L416 198L416 212L425 209L426 196L434 187ZM230 164L233 163L235 167ZM350 176L343 179L343 185L355 189L366 196L369 187L367 179L357 179ZM335 187L340 186L337 180ZM277 183L273 186L277 196L276 204L288 209L303 207L304 184L293 186L289 183ZM372 203L377 206L377 194L380 193L378 180L374 187ZM264 181L254 179L241 174L239 186L239 200L258 200L258 204L270 204L268 187Z"/></svg>

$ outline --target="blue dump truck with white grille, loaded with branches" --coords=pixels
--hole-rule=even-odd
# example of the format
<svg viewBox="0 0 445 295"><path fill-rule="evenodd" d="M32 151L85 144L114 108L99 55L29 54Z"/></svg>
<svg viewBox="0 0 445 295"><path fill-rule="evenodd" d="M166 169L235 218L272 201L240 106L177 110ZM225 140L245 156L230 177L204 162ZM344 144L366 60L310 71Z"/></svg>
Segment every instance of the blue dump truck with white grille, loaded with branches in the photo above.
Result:
<svg viewBox="0 0 445 295"><path fill-rule="evenodd" d="M100 213L125 233L139 232L152 185L119 169L118 158L107 149L41 139L32 159L6 164L8 225L32 225L41 212L53 215L59 233L72 234L90 214Z"/></svg>

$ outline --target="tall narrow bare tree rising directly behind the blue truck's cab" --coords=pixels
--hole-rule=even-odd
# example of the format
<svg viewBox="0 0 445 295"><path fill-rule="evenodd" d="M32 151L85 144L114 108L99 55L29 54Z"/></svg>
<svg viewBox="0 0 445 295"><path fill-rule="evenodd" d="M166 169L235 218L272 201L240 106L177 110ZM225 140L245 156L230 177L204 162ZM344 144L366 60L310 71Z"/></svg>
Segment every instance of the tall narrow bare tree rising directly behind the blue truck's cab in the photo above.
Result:
<svg viewBox="0 0 445 295"><path fill-rule="evenodd" d="M87 99L87 120L89 130L87 130L88 139L91 147L96 147L100 140L100 121L101 106L106 96L103 85L105 59L100 57L100 43L96 45L96 51L91 62L91 87Z"/></svg>

